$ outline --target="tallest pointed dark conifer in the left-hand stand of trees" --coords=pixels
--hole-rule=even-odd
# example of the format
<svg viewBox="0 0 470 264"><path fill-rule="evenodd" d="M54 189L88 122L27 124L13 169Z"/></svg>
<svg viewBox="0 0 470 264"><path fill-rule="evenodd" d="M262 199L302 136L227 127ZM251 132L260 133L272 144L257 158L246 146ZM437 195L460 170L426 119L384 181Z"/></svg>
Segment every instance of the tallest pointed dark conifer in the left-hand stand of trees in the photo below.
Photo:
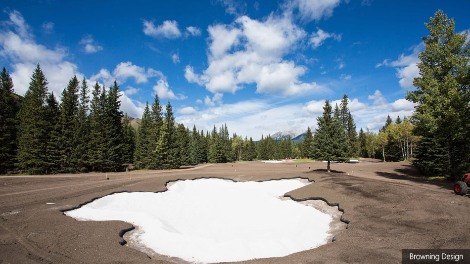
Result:
<svg viewBox="0 0 470 264"><path fill-rule="evenodd" d="M47 171L47 79L39 64L18 113L17 166L22 173L45 174Z"/></svg>

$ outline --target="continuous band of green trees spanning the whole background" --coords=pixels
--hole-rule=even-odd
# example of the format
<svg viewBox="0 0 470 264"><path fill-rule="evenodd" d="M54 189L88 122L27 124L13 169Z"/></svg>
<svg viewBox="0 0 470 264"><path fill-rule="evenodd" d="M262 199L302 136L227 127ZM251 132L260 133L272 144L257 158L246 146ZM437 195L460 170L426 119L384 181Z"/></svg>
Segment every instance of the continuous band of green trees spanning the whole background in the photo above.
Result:
<svg viewBox="0 0 470 264"><path fill-rule="evenodd" d="M387 117L378 133L356 124L345 94L339 106L327 100L317 129L307 129L294 144L270 135L255 142L227 124L211 132L175 125L168 101L165 111L155 95L145 106L139 129L120 110L116 82L106 89L97 82L73 77L60 103L47 90L40 66L34 70L24 98L14 94L8 71L0 73L0 174L119 171L126 164L138 169L174 169L203 162L310 157L347 161L351 157L412 160L429 176L458 177L470 170L470 43L468 33L455 33L455 22L441 10L425 24L419 53L420 76L406 99L417 104L410 117ZM329 163L328 163L329 168Z"/></svg>

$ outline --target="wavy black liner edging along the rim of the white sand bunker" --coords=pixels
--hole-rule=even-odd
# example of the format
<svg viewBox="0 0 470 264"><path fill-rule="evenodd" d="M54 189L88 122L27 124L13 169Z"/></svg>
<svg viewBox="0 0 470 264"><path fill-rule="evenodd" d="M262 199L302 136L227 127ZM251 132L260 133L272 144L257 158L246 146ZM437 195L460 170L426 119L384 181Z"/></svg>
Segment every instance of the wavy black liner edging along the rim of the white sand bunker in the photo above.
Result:
<svg viewBox="0 0 470 264"><path fill-rule="evenodd" d="M224 177L196 177L196 178L192 178L192 179L182 179L182 178L178 178L178 179L171 179L171 180L168 180L167 182L165 182L165 190L163 190L163 191L156 191L156 192L153 192L153 193L159 193L159 192L166 192L166 191L168 191L168 188L167 188L168 183L174 182L174 181L179 181L179 180L195 180L195 179L214 179L214 178L215 178L215 179L232 180L232 181L234 181L234 182L239 182L238 180L231 179L231 178L224 178ZM301 176L298 176L298 177L290 177L290 178L285 178L285 177L283 177L283 178L278 178L278 179L257 180L256 182L263 182L263 181L270 181L270 180L282 180L282 179L296 179L296 178L306 179L306 180L308 180L308 181L310 181L310 182L315 182L315 180L313 180L313 179L309 179L308 177L301 177ZM128 192L128 193L130 193L130 192L144 192L144 191L115 191L115 192L111 192L111 193L109 193L109 194L107 194L107 195L104 195L104 196L108 196L108 195L115 194L115 193L123 193L123 192ZM62 215L65 216L64 212L72 211L72 210L75 210L75 209L79 209L79 208L81 208L82 206L84 206L84 205L86 205L86 204L89 204L89 203L93 202L93 201L96 200L96 199L103 198L104 196L94 197L94 198L91 199L90 201L87 201L87 202L85 202L85 203L81 203L81 204L79 204L78 206L75 206L75 207L71 207L71 208L67 208L67 209L62 209L62 210L60 210L60 212L62 212ZM338 211L342 212L341 217L340 217L339 220L340 220L341 222L346 223L346 229L349 228L349 222L351 222L351 221L350 221L350 220L346 220L346 219L343 218L344 209L340 208L338 203L333 203L333 204L332 204L332 203L329 203L329 202L327 201L327 199L322 198L322 197L307 197L307 198L298 199L298 198L292 197L292 196L289 195L289 194L284 194L284 197L289 197L290 199L292 199L293 201L296 201L296 202L304 202L304 201L308 201L308 200L322 200L322 201L324 201L325 203L327 203L329 206L332 206L332 207L336 206L336 207L338 207ZM122 238L122 240L119 241L119 244L121 244L121 246L124 246L124 245L127 244L127 241L124 240L124 238L123 238L124 234L127 233L127 232L129 232L129 231L131 231L131 230L134 230L135 228L136 228L136 227L135 227L134 225L131 225L131 227L124 228L124 229L122 229L121 231L119 231L119 236ZM333 237L332 241L336 241L336 238ZM148 256L147 256L147 257L148 257Z"/></svg>

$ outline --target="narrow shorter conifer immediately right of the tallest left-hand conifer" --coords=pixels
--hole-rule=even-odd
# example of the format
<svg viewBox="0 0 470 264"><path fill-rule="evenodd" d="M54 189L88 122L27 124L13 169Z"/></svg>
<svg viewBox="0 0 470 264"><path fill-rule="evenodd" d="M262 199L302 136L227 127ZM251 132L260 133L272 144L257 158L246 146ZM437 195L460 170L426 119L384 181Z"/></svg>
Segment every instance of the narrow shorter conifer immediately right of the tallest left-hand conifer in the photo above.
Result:
<svg viewBox="0 0 470 264"><path fill-rule="evenodd" d="M60 110L59 103L55 99L54 93L51 92L47 96L46 106L46 129L47 145L46 145L46 174L54 174L60 171Z"/></svg>

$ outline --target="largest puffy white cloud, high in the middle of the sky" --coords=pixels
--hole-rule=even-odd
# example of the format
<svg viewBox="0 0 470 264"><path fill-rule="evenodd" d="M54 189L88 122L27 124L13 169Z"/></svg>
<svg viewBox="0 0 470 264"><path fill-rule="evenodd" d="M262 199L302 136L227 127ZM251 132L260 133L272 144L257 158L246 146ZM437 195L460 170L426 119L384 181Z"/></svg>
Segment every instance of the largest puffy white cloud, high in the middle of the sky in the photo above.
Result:
<svg viewBox="0 0 470 264"><path fill-rule="evenodd" d="M238 17L233 24L208 28L209 66L201 74L191 66L185 77L213 93L255 84L256 92L282 96L326 90L315 82L302 82L307 69L283 56L307 36L289 17L269 15L263 20Z"/></svg>

